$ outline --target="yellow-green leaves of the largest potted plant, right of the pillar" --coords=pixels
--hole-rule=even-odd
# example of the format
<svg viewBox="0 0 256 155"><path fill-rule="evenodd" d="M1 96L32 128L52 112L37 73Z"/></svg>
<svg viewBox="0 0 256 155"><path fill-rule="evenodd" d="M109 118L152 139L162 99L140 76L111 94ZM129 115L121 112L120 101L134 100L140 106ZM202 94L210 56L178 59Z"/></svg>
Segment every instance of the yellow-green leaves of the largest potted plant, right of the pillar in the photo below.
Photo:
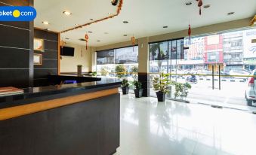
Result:
<svg viewBox="0 0 256 155"><path fill-rule="evenodd" d="M159 74L159 77L153 78L153 87L155 91L162 93L169 93L168 86L171 84L169 80L170 74L164 74L163 72Z"/></svg>

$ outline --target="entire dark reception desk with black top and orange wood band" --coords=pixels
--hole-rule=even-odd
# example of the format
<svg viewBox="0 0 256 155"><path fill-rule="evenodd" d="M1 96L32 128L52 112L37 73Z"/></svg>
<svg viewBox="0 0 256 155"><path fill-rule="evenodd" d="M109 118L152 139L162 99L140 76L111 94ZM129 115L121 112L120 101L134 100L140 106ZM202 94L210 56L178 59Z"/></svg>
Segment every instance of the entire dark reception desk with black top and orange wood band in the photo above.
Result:
<svg viewBox="0 0 256 155"><path fill-rule="evenodd" d="M119 147L120 84L117 79L97 78L32 87L20 95L0 97L0 154L115 153Z"/></svg>

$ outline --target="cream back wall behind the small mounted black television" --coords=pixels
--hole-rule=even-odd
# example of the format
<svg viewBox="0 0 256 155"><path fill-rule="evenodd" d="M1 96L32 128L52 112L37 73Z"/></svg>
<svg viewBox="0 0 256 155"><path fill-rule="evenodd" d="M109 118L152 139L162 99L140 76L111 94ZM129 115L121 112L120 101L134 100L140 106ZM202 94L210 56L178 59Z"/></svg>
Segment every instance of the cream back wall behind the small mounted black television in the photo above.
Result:
<svg viewBox="0 0 256 155"><path fill-rule="evenodd" d="M91 47L85 50L85 46L76 44L65 44L66 47L74 47L74 56L61 56L60 73L76 72L77 65L82 65L83 72L91 71Z"/></svg>

